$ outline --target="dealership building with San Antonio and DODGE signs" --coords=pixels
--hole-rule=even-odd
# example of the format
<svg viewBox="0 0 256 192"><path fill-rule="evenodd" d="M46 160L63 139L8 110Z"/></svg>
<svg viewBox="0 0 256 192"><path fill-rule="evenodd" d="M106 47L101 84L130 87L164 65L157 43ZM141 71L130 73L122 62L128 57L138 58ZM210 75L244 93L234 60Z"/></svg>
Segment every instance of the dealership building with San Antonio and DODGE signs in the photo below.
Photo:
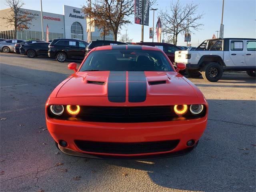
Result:
<svg viewBox="0 0 256 192"><path fill-rule="evenodd" d="M14 37L14 26L8 26L4 19L0 20L0 38L5 39L36 39L42 40L41 12L36 10L20 9L21 14L28 12L34 16L28 30L17 31ZM0 18L11 13L11 9L0 10ZM49 29L49 40L55 38L72 38L87 40L86 18L80 8L63 5L63 15L43 12L44 39L46 39L46 27ZM92 32L92 40L102 40L100 30L95 27ZM106 36L105 40L114 40L114 36Z"/></svg>

